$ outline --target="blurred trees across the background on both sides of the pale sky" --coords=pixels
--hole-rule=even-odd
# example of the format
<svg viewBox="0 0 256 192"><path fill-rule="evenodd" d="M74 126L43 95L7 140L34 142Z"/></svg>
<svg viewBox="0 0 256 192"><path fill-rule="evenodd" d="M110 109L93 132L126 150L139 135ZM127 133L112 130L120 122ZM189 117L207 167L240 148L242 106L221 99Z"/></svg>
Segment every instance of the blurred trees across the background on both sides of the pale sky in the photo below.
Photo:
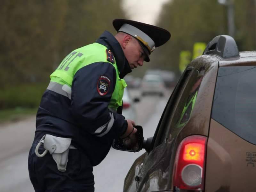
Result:
<svg viewBox="0 0 256 192"><path fill-rule="evenodd" d="M49 82L49 75L72 50L93 43L104 30L115 33L112 20L125 18L120 0L0 1L0 80L2 88ZM150 3L150 2L149 2ZM235 40L239 51L256 50L256 1L234 0ZM145 7L146 9L146 7ZM228 34L227 6L217 0L170 0L156 23L172 34L157 48L148 68L179 74L179 56L195 42L208 43Z"/></svg>

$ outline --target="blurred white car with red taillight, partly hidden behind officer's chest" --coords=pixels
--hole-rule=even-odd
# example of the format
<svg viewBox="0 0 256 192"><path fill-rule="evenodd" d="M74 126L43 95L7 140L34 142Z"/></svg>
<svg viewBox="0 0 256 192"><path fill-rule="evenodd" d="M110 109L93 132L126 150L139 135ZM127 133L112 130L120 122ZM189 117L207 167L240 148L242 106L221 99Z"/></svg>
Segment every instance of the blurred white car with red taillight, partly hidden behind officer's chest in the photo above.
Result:
<svg viewBox="0 0 256 192"><path fill-rule="evenodd" d="M122 115L125 117L125 119L132 119L136 122L137 114L134 108L134 104L139 101L140 99L136 97L132 99L127 87L124 89Z"/></svg>

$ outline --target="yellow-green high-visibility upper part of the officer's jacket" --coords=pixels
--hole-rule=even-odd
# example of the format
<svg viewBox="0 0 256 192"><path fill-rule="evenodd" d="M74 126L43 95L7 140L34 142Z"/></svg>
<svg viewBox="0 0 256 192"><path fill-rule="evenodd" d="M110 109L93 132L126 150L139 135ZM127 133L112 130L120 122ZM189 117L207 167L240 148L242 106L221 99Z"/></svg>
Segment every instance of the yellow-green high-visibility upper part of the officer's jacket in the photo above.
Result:
<svg viewBox="0 0 256 192"><path fill-rule="evenodd" d="M106 50L107 47L99 43L89 44L74 50L62 60L58 68L50 75L51 82L67 84L71 87L73 78L79 69L95 62L104 62L102 65L110 63L116 69L116 85L108 108L116 111L123 104L122 98L127 84L124 79L119 78L120 72L117 69L116 60L114 59L114 63L107 60Z"/></svg>

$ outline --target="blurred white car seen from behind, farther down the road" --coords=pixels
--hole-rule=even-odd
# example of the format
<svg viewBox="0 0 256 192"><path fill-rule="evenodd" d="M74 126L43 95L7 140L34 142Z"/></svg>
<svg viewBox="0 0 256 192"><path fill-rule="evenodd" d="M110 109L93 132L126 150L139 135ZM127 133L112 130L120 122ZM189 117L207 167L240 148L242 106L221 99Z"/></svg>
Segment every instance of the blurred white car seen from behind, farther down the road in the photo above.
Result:
<svg viewBox="0 0 256 192"><path fill-rule="evenodd" d="M146 74L141 82L141 95L158 94L164 96L165 85L164 80L157 74Z"/></svg>

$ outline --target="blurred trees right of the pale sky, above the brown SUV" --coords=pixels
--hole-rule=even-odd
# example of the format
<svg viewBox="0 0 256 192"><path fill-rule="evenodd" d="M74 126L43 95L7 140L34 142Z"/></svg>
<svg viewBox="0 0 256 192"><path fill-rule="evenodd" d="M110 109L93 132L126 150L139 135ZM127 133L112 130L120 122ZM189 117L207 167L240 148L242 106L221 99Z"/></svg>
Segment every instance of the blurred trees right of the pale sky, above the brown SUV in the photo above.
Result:
<svg viewBox="0 0 256 192"><path fill-rule="evenodd" d="M235 25L239 51L256 49L256 2L235 0ZM208 43L217 35L228 34L227 7L217 0L171 0L163 6L158 26L172 34L167 44L156 49L152 67L179 73L179 55L193 52L195 42Z"/></svg>

